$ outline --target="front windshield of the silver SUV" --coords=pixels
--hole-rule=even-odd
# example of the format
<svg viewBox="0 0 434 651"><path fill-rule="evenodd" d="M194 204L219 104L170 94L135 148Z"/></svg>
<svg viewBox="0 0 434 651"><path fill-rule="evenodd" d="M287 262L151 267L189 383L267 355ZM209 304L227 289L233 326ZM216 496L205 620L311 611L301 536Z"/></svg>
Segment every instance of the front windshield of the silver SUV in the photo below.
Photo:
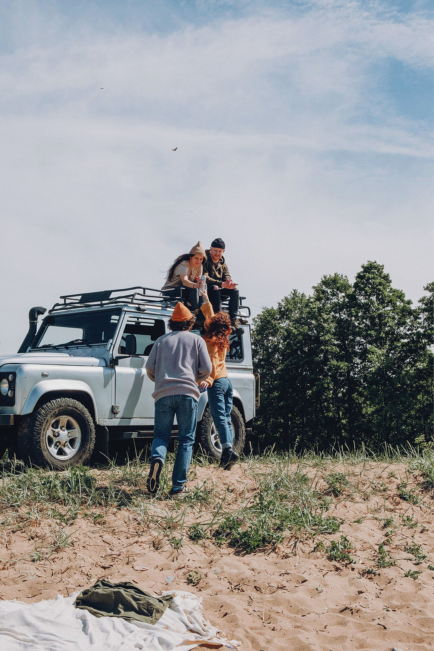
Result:
<svg viewBox="0 0 434 651"><path fill-rule="evenodd" d="M44 319L32 348L105 344L113 339L121 310L59 314Z"/></svg>

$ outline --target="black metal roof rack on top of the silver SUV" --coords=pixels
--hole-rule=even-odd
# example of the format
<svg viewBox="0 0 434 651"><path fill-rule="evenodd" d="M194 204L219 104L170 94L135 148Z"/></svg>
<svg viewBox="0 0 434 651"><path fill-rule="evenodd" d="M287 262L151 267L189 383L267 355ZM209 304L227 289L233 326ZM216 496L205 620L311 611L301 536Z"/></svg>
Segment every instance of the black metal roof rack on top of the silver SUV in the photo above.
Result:
<svg viewBox="0 0 434 651"><path fill-rule="evenodd" d="M123 292L131 292L125 294ZM139 309L146 309L147 305L161 305L161 307L174 307L179 301L179 297L170 298L165 296L160 289L152 287L144 287L142 285L135 287L124 287L122 289L109 289L102 292L87 292L84 294L66 294L61 296L63 303L55 303L48 314L51 312L74 310L77 307L103 307L103 305L125 305L125 303L135 305ZM222 297L223 303L228 298ZM239 316L250 316L251 309L247 305L243 305L245 296L239 297ZM241 309L247 310L247 314L243 314Z"/></svg>

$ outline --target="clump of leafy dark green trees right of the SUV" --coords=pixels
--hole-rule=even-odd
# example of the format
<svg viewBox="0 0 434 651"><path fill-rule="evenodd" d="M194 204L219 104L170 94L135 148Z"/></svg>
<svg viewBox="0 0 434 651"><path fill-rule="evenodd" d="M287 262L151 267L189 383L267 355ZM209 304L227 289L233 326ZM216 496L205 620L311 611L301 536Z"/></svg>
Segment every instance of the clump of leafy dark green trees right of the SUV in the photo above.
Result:
<svg viewBox="0 0 434 651"><path fill-rule="evenodd" d="M284 446L405 443L432 427L433 283L414 308L377 262L254 319L256 427Z"/></svg>

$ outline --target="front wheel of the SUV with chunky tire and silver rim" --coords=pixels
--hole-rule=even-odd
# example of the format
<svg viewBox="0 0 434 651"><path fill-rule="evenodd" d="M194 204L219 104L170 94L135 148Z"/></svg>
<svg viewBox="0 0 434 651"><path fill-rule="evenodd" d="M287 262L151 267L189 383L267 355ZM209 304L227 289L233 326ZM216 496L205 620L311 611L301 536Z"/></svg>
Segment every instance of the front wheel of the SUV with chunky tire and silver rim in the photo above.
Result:
<svg viewBox="0 0 434 651"><path fill-rule="evenodd" d="M55 398L22 419L18 450L24 461L62 470L85 464L95 445L92 416L81 402Z"/></svg>

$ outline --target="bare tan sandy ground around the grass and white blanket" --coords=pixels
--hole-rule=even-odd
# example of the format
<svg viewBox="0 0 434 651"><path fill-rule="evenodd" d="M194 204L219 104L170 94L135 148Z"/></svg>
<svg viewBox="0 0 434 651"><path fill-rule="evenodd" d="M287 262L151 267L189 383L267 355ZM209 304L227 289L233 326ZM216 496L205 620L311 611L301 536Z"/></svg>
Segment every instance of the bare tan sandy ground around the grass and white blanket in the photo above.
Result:
<svg viewBox="0 0 434 651"><path fill-rule="evenodd" d="M388 477L390 471L396 478ZM323 536L323 540L346 535L359 561L349 566L312 551L318 538L288 540L276 551L249 555L217 547L210 540L193 544L185 538L176 550L157 530L146 529L135 510L111 509L103 519L98 520L98 515L93 520L77 518L66 527L71 544L49 558L42 554L39 561L29 559L49 539L53 519L36 517L26 529L5 529L0 542L0 598L39 602L105 577L115 583L134 581L156 593L173 588L200 594L204 616L228 639L239 641L241 650L431 649L433 571L427 564L433 562L433 519L429 497L413 506L396 496L403 466L384 464L363 470L355 466L351 473L359 478L359 487L360 482L384 480L387 491L369 499L362 499L359 491L356 497L341 495L332 503L329 515L344 523L337 534ZM190 488L206 480L214 484L217 495L227 493L234 505L255 486L247 465L230 473L213 466L197 467L195 475ZM154 500L152 505L160 510L161 519L167 508L175 508L172 501L169 505L169 501ZM16 512L19 515L20 509ZM385 538L381 521L388 515L400 523L388 549L403 560L375 570L376 575L366 575L366 568L375 568L377 548ZM204 516L209 518L203 505L187 508L184 527ZM418 526L403 525L406 516L413 516ZM418 566L405 560L409 554L403 551L405 544L413 542L428 555L427 562ZM404 577L407 570L422 572L414 580Z"/></svg>

